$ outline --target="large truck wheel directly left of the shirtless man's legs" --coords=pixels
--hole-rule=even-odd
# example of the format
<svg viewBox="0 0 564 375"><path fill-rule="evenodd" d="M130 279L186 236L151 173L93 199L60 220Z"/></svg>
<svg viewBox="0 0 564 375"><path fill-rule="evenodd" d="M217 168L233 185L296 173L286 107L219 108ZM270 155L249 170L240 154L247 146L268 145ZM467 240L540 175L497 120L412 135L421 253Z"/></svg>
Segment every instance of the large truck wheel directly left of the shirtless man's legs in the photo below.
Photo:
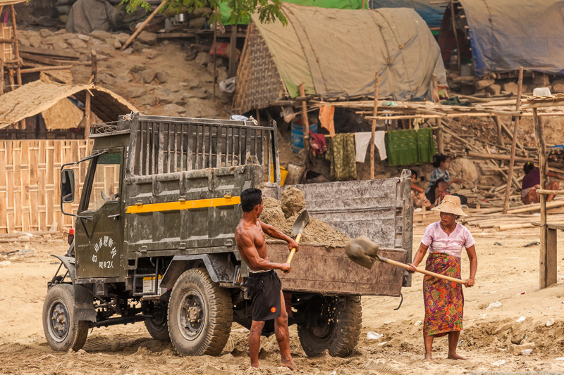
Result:
<svg viewBox="0 0 564 375"><path fill-rule="evenodd" d="M219 355L232 323L231 295L205 269L180 275L168 301L168 332L178 354Z"/></svg>

